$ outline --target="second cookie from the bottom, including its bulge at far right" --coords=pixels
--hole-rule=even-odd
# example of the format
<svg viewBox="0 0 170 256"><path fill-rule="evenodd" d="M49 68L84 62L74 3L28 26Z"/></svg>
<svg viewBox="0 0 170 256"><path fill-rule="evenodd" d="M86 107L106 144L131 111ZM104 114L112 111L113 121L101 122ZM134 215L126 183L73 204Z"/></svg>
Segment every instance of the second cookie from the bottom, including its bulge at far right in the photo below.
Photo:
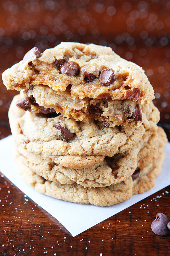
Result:
<svg viewBox="0 0 170 256"><path fill-rule="evenodd" d="M151 165L162 154L166 142L166 134L159 127L157 133L144 141L141 140L133 149L116 154L112 158L106 157L100 164L83 169L65 168L29 153L19 146L16 147L15 152L19 161L46 180L61 184L75 182L83 187L104 187L126 180L137 167L143 169ZM145 162L144 159L146 159Z"/></svg>

